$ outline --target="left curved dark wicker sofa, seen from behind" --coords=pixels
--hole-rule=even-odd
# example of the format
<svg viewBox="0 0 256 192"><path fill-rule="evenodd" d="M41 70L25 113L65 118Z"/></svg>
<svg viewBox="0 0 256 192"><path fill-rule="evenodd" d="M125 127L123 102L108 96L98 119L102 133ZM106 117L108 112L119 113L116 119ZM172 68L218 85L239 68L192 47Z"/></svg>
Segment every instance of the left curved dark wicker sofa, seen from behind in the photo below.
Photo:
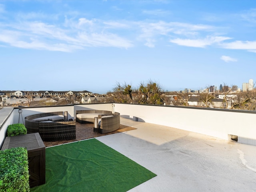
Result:
<svg viewBox="0 0 256 192"><path fill-rule="evenodd" d="M66 117L67 118L67 117ZM25 117L27 133L38 132L43 141L76 138L76 122L64 121L63 112L39 113Z"/></svg>

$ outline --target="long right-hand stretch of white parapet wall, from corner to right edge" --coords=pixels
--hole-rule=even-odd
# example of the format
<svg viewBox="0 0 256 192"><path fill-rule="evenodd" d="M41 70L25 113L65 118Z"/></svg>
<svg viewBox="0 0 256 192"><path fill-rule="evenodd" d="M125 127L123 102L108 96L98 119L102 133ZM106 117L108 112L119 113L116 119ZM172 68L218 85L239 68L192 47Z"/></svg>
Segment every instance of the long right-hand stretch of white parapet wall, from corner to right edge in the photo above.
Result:
<svg viewBox="0 0 256 192"><path fill-rule="evenodd" d="M238 142L256 145L255 112L134 104L115 106L116 112L125 118L138 118L138 121L170 126L224 140L228 140L229 134L236 135Z"/></svg>

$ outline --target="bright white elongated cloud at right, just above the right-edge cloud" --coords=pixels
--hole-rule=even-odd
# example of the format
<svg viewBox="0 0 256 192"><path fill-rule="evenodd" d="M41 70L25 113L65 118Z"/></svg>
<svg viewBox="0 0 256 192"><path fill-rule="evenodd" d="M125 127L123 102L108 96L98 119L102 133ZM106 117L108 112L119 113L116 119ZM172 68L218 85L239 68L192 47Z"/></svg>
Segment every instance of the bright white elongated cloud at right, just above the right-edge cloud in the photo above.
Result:
<svg viewBox="0 0 256 192"><path fill-rule="evenodd" d="M230 39L229 37L223 37L223 36L207 36L204 39L172 39L170 40L171 43L175 43L181 46L188 46L188 47L200 47L204 48L206 46L220 43L224 40Z"/></svg>

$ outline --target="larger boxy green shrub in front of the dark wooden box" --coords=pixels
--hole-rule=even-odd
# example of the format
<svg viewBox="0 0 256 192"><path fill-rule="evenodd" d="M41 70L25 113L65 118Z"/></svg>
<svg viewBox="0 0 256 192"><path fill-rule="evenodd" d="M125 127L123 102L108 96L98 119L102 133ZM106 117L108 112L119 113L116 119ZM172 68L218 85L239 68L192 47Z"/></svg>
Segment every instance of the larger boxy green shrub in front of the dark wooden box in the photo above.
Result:
<svg viewBox="0 0 256 192"><path fill-rule="evenodd" d="M0 151L0 192L29 192L28 152L26 148Z"/></svg>

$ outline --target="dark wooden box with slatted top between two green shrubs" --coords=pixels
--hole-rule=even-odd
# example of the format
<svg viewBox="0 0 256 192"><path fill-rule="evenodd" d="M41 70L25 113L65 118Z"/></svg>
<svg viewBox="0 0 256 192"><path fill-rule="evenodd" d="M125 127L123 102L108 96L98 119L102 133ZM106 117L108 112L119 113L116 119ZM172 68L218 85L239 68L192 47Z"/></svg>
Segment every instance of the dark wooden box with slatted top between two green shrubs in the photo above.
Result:
<svg viewBox="0 0 256 192"><path fill-rule="evenodd" d="M45 184L45 146L39 133L6 137L1 150L26 147L30 188Z"/></svg>

